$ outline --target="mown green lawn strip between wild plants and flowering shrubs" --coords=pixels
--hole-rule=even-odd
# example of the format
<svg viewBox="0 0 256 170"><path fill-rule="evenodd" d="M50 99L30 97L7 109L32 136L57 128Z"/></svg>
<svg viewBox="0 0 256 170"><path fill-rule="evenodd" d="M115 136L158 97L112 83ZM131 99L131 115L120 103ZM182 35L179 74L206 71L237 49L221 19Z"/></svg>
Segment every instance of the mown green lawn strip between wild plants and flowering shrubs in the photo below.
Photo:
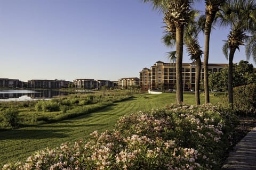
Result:
<svg viewBox="0 0 256 170"><path fill-rule="evenodd" d="M211 100L215 103L220 97L211 96ZM184 101L195 104L194 95L184 94ZM102 132L113 129L120 116L161 108L170 103L175 103L175 94L134 95L130 100L70 120L0 132L0 165L24 160L31 153L46 147L55 148L64 142L89 138L89 134L95 130Z"/></svg>

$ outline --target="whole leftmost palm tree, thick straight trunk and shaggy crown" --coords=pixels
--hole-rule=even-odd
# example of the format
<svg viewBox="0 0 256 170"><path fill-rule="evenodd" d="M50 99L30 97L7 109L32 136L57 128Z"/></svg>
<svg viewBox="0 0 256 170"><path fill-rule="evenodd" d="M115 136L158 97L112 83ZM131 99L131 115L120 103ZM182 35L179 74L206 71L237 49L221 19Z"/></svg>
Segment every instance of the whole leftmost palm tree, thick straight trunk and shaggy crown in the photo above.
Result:
<svg viewBox="0 0 256 170"><path fill-rule="evenodd" d="M176 41L176 77L177 77L177 94L176 103L183 102L183 89L182 89L182 58L183 58L183 33L184 26L190 18L190 5L192 0L143 0L143 2L153 3L155 8L161 9L165 16L164 22L166 30L173 32L175 28L175 41Z"/></svg>

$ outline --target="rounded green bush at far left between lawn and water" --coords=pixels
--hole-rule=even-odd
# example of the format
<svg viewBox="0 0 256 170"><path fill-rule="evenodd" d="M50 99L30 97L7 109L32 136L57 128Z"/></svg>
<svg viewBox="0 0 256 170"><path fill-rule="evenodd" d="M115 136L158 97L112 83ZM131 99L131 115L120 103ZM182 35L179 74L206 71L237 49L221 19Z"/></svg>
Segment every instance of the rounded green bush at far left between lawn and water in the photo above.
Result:
<svg viewBox="0 0 256 170"><path fill-rule="evenodd" d="M3 112L3 124L5 127L13 127L13 128L17 128L19 125L19 111L17 109L14 108L7 108L4 112Z"/></svg>

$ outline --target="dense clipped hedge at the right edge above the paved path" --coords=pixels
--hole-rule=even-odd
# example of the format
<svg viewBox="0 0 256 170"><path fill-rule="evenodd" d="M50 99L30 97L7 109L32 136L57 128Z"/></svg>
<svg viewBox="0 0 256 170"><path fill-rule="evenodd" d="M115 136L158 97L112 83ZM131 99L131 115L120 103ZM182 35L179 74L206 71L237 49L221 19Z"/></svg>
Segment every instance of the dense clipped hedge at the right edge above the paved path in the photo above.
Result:
<svg viewBox="0 0 256 170"><path fill-rule="evenodd" d="M239 113L256 114L256 84L234 88L234 108Z"/></svg>

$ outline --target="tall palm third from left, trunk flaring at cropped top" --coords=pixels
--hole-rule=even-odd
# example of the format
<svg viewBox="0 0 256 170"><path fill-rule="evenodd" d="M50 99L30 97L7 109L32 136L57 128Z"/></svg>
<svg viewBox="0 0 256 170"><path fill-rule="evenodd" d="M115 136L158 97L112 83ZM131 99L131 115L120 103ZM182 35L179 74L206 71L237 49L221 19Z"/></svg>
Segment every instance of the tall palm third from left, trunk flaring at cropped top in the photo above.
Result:
<svg viewBox="0 0 256 170"><path fill-rule="evenodd" d="M204 92L205 104L210 103L209 81L208 81L208 61L209 61L209 47L212 23L219 7L225 4L225 0L205 0L205 32L204 32Z"/></svg>

